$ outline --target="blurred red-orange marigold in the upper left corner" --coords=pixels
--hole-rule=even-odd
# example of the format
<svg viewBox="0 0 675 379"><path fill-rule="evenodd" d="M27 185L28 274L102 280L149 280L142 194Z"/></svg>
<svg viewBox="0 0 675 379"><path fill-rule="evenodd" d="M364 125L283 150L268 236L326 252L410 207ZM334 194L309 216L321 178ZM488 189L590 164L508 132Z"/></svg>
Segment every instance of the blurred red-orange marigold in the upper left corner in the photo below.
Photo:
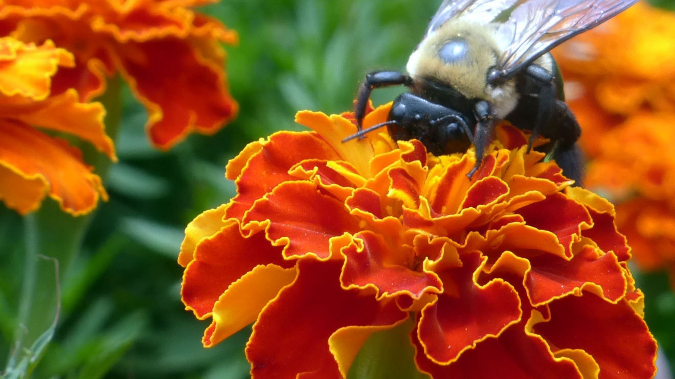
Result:
<svg viewBox="0 0 675 379"><path fill-rule="evenodd" d="M1 35L53 40L76 64L61 69L53 92L75 88L83 101L105 92L119 71L148 111L148 136L169 149L190 132L217 132L238 110L225 83L225 52L236 32L188 9L208 0L7 0Z"/></svg>

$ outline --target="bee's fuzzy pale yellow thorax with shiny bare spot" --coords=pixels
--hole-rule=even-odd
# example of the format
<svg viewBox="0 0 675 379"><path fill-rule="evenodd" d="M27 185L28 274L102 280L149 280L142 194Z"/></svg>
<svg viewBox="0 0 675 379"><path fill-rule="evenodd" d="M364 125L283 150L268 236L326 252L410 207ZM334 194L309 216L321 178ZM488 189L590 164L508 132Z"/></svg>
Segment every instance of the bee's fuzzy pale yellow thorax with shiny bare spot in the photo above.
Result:
<svg viewBox="0 0 675 379"><path fill-rule="evenodd" d="M497 62L497 45L487 26L446 22L418 45L408 73L452 86L467 98L486 98L487 73Z"/></svg>

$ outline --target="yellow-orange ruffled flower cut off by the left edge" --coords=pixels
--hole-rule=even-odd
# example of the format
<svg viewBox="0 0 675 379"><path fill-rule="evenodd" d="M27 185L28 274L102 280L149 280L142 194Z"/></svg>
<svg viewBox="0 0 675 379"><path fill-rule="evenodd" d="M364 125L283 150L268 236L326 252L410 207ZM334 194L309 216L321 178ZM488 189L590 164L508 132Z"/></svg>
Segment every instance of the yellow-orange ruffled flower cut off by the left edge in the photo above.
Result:
<svg viewBox="0 0 675 379"><path fill-rule="evenodd" d="M107 199L80 150L35 128L77 136L116 161L101 103L80 103L74 89L50 91L59 67L73 65L49 40L36 46L0 38L0 199L20 214L39 208L47 193L76 216Z"/></svg>

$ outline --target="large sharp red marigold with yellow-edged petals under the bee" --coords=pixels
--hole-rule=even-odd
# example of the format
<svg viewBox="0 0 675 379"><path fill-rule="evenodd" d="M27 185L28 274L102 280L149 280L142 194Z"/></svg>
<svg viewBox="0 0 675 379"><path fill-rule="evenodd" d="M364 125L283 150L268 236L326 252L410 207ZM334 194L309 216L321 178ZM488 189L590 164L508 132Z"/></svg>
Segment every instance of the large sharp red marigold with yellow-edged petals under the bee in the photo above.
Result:
<svg viewBox="0 0 675 379"><path fill-rule="evenodd" d="M206 347L254 322L253 378L341 378L373 332L413 318L433 378L655 374L614 207L525 154L520 130L499 126L468 179L473 150L386 131L343 144L350 114L296 121L313 132L246 146L227 165L238 195L186 229L182 299L212 318Z"/></svg>

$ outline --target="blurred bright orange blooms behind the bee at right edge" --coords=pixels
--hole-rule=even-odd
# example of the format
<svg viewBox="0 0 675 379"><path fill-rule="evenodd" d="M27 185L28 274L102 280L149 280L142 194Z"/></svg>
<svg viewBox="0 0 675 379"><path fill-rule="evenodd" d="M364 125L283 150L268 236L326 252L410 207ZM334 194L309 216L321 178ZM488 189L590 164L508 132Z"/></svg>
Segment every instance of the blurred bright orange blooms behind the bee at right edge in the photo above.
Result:
<svg viewBox="0 0 675 379"><path fill-rule="evenodd" d="M553 53L587 187L616 204L639 267L670 270L675 288L675 13L638 3Z"/></svg>

